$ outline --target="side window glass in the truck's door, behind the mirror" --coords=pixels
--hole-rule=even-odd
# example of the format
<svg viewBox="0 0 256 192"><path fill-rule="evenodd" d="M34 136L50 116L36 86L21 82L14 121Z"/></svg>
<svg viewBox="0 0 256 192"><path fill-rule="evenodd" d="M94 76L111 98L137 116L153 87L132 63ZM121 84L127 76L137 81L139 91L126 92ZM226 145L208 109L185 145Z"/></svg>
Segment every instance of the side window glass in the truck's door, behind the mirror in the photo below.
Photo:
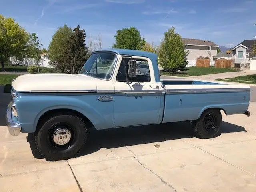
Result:
<svg viewBox="0 0 256 192"><path fill-rule="evenodd" d="M126 77L130 82L150 82L150 72L148 62L146 60L136 60L136 76L128 77L128 62L129 58L123 58L118 69L116 80L120 82L126 82ZM137 65L138 64L138 65Z"/></svg>

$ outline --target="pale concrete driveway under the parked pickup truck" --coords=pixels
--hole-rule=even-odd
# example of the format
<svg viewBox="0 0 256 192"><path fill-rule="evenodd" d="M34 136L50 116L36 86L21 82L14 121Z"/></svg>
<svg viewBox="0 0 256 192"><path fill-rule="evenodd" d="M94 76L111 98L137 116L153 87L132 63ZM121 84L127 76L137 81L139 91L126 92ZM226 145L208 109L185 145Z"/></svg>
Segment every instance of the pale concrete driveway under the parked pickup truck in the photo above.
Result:
<svg viewBox="0 0 256 192"><path fill-rule="evenodd" d="M0 106L1 192L256 191L254 102L250 117L223 114L216 138L194 138L183 122L92 130L78 157L48 162L27 134L8 133L4 100L8 96Z"/></svg>

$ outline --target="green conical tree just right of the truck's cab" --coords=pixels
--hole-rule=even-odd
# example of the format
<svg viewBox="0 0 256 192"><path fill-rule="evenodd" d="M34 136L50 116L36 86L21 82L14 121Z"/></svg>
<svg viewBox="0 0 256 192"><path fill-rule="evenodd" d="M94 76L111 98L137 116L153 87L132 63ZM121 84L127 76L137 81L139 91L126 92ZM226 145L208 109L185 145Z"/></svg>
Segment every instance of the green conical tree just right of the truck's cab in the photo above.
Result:
<svg viewBox="0 0 256 192"><path fill-rule="evenodd" d="M182 69L188 64L188 51L185 50L181 36L175 33L174 27L164 33L158 55L160 66L166 71Z"/></svg>

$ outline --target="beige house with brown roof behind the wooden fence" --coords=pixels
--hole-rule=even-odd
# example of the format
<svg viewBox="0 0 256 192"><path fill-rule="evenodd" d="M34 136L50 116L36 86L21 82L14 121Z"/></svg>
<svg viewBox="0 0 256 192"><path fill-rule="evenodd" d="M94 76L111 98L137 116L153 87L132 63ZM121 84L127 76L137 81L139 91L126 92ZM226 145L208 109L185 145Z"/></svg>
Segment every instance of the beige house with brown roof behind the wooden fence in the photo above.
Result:
<svg viewBox="0 0 256 192"><path fill-rule="evenodd" d="M217 48L219 47L214 42L200 39L183 38L188 54L188 66L196 66L196 59L200 56L209 57L211 65L214 65L213 58L217 56Z"/></svg>

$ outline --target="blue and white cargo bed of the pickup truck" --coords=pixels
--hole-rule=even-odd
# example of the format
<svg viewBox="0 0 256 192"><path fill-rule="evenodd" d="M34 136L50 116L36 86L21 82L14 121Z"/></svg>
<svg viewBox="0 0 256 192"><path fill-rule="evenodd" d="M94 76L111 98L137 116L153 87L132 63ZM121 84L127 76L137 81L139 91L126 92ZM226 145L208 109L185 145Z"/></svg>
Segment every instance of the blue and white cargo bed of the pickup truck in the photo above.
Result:
<svg viewBox="0 0 256 192"><path fill-rule="evenodd" d="M250 87L246 84L218 83L198 80L163 80L163 122L196 120L208 108L219 108L227 115L246 112Z"/></svg>

